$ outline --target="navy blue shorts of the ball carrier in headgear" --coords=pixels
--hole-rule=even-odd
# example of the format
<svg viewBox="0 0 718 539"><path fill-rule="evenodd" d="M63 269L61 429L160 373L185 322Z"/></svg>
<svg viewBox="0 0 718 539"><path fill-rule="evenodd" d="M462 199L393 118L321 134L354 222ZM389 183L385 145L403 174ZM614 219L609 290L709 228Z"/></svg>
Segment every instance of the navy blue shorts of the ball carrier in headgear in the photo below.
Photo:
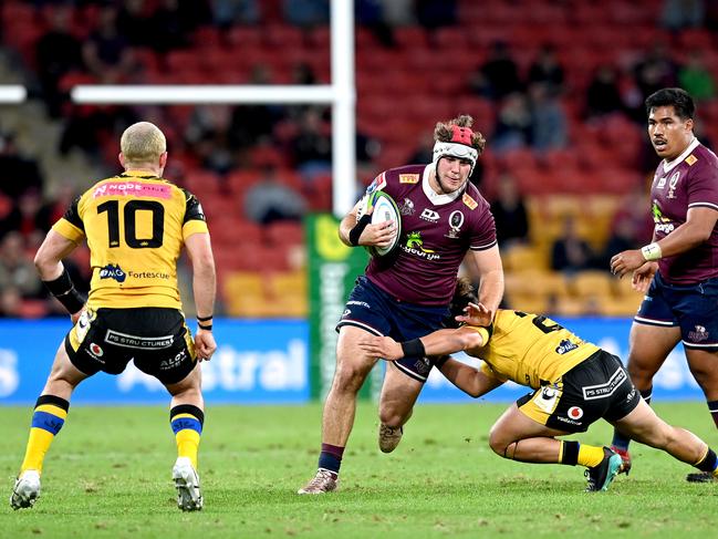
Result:
<svg viewBox="0 0 718 539"><path fill-rule="evenodd" d="M336 324L362 328L377 336L410 341L444 326L448 307L423 307L393 298L366 277L360 276ZM407 376L426 382L431 363L427 357L403 357L393 362Z"/></svg>

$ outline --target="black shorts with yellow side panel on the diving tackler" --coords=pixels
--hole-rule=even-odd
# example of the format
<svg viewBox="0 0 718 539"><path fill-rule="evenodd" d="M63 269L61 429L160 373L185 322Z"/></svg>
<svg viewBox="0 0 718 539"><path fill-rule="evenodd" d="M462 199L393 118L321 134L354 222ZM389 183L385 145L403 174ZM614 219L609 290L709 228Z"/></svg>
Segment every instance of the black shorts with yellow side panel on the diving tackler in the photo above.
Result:
<svg viewBox="0 0 718 539"><path fill-rule="evenodd" d="M614 422L625 417L639 400L621 360L600 350L558 382L522 396L517 405L550 428L583 433L601 418Z"/></svg>

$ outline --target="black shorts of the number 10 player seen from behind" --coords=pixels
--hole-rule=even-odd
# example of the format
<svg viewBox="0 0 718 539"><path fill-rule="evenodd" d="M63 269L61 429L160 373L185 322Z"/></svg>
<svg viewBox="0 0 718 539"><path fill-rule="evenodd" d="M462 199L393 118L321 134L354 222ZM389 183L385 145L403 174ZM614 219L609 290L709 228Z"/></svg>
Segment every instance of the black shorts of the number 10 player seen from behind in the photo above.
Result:
<svg viewBox="0 0 718 539"><path fill-rule="evenodd" d="M87 310L65 336L65 351L85 374L119 374L134 360L163 384L184 380L196 364L195 342L177 309Z"/></svg>

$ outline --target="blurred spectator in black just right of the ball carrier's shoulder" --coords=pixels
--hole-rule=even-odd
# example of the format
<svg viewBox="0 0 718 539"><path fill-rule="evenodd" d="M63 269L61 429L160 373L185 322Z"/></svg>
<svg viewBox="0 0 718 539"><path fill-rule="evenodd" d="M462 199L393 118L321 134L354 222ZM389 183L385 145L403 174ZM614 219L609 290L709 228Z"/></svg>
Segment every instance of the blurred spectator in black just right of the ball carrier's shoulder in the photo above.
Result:
<svg viewBox="0 0 718 539"><path fill-rule="evenodd" d="M510 248L529 238L529 217L516 179L509 174L499 178L497 199L491 203L499 247Z"/></svg>

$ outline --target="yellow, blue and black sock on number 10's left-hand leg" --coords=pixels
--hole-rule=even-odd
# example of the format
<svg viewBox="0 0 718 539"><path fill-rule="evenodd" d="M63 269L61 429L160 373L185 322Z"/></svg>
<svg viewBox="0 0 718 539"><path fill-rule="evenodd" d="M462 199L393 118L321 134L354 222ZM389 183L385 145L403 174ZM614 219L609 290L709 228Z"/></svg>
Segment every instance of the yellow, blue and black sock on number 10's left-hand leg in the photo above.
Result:
<svg viewBox="0 0 718 539"><path fill-rule="evenodd" d="M69 406L67 401L52 395L42 395L38 398L35 411L32 414L25 456L20 466L21 474L27 469L42 471L45 454L65 423Z"/></svg>

